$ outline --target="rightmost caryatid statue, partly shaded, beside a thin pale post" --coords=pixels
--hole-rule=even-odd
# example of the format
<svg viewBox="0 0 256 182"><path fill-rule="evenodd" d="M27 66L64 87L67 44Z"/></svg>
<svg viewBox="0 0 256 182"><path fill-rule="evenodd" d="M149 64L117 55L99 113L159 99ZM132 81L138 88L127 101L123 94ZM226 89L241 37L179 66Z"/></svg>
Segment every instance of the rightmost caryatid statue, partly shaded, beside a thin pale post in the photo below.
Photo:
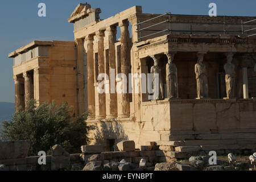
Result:
<svg viewBox="0 0 256 182"><path fill-rule="evenodd" d="M235 65L232 63L233 53L226 53L226 64L224 65L225 70L225 81L226 81L226 97L234 97L234 85L235 85Z"/></svg>

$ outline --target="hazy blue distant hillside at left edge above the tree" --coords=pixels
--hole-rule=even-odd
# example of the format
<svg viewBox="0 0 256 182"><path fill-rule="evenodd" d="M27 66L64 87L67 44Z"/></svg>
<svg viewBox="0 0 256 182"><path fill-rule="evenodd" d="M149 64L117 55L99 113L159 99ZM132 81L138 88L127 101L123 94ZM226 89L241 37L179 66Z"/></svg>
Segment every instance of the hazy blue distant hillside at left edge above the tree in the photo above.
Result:
<svg viewBox="0 0 256 182"><path fill-rule="evenodd" d="M11 119L14 114L14 107L14 103L0 102L0 123Z"/></svg>

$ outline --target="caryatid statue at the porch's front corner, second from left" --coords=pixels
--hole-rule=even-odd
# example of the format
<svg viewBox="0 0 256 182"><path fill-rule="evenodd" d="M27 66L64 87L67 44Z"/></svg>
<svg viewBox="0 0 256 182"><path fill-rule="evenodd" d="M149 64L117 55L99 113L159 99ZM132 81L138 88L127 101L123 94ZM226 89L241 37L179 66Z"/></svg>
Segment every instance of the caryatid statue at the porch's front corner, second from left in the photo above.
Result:
<svg viewBox="0 0 256 182"><path fill-rule="evenodd" d="M166 53L168 63L166 64L167 97L178 98L177 67L173 63L175 53Z"/></svg>

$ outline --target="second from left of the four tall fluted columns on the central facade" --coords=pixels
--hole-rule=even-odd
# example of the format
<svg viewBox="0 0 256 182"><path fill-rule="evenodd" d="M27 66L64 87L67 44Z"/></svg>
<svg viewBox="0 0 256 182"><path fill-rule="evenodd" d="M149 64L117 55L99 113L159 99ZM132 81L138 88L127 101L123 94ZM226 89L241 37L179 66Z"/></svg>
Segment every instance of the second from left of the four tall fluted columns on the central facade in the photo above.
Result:
<svg viewBox="0 0 256 182"><path fill-rule="evenodd" d="M98 39L98 74L105 73L104 67L104 32L96 32ZM97 78L96 78L97 79ZM98 106L99 114L96 116L97 119L106 118L106 97L105 93L98 93Z"/></svg>

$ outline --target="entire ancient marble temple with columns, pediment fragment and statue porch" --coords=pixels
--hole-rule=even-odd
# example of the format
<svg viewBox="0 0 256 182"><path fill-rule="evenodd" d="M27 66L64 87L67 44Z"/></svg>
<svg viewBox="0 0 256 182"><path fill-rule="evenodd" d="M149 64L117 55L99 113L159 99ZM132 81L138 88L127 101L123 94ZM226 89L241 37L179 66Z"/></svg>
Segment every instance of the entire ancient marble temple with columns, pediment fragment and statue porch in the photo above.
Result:
<svg viewBox="0 0 256 182"><path fill-rule="evenodd" d="M124 139L137 148L172 143L172 155L179 146L217 150L224 140L256 148L256 36L241 31L241 20L255 17L225 16L223 24L223 16L144 14L141 6L100 13L80 3L68 19L74 42L35 41L9 54L16 110L32 98L66 101L73 117L89 113L91 143L106 150ZM150 73L153 82L144 80Z"/></svg>

